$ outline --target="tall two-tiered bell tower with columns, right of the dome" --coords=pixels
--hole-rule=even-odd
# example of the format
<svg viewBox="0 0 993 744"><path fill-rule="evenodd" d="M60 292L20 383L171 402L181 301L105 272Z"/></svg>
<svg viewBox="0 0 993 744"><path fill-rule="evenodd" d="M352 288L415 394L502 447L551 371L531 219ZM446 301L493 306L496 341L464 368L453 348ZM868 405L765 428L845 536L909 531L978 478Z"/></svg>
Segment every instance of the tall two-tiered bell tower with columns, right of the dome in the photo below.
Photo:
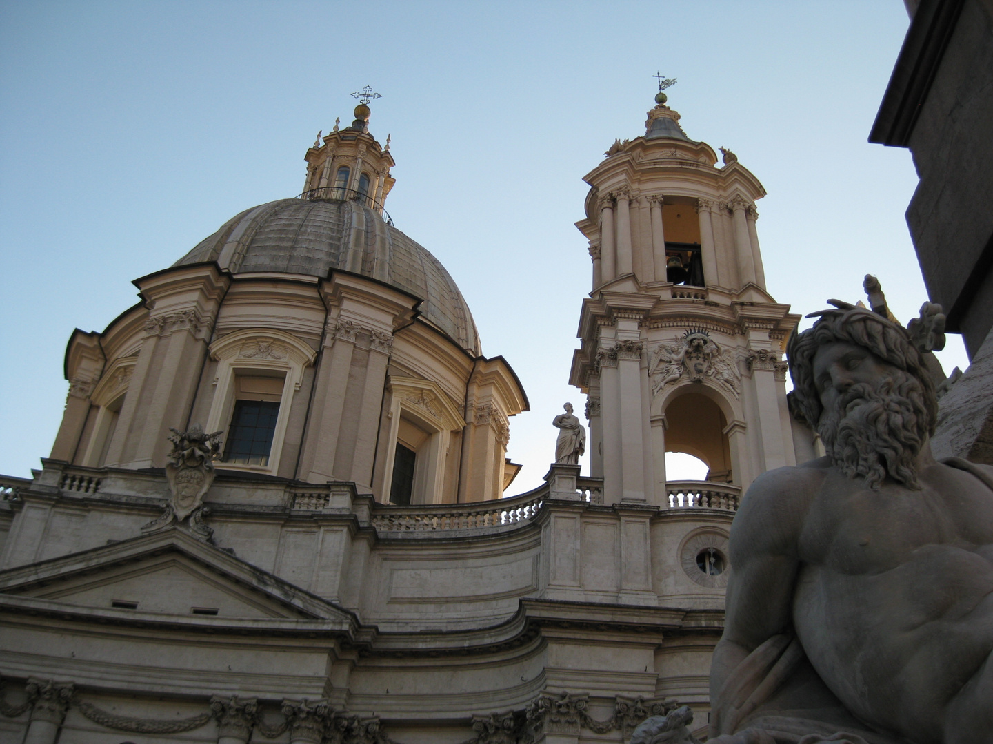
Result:
<svg viewBox="0 0 993 744"><path fill-rule="evenodd" d="M766 290L759 180L729 150L686 136L660 80L644 134L617 140L585 178L593 291L570 382L588 396L591 474L606 503L665 507L665 452L707 463L695 489L736 499L762 472L815 455L786 406L799 320ZM795 432L794 432L795 430ZM682 490L680 490L682 489ZM710 498L710 497L706 497Z"/></svg>

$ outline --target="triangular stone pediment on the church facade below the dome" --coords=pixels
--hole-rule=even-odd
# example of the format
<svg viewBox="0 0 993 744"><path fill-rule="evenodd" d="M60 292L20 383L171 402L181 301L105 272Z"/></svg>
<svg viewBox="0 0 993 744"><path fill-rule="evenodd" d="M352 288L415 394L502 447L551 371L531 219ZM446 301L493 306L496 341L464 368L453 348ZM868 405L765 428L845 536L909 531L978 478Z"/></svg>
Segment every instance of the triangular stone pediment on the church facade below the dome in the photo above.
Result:
<svg viewBox="0 0 993 744"><path fill-rule="evenodd" d="M345 610L176 528L0 571L0 593L142 615L354 624Z"/></svg>

